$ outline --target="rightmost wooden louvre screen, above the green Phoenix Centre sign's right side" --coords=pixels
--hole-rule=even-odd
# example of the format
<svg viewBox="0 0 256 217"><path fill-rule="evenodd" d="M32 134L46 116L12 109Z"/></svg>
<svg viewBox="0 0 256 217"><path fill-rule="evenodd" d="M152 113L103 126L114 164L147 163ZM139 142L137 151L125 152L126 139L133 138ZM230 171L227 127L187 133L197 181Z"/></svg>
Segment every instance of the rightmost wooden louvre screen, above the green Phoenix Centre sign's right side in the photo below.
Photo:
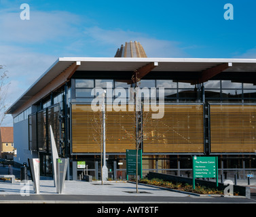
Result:
<svg viewBox="0 0 256 217"><path fill-rule="evenodd" d="M211 152L255 153L256 105L211 105Z"/></svg>

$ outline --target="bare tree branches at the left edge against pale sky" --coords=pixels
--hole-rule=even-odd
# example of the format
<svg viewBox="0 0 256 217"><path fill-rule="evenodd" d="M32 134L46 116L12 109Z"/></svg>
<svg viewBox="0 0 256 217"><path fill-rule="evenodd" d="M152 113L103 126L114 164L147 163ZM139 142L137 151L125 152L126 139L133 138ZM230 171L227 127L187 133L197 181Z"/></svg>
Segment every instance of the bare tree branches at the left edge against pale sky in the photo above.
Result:
<svg viewBox="0 0 256 217"><path fill-rule="evenodd" d="M5 110L7 109L6 96L10 83L7 83L8 71L5 66L0 65L0 126L5 118Z"/></svg>

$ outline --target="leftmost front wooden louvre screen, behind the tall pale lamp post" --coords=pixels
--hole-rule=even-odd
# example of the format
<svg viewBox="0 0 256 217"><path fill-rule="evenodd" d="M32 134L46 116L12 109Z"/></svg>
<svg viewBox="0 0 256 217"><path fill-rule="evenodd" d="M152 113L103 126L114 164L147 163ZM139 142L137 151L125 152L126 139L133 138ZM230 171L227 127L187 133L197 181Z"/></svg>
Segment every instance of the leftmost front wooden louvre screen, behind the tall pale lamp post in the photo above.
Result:
<svg viewBox="0 0 256 217"><path fill-rule="evenodd" d="M94 112L90 104L71 105L71 133L73 153L100 153L102 141L102 113ZM106 152L125 153L134 149L135 113L106 111Z"/></svg>

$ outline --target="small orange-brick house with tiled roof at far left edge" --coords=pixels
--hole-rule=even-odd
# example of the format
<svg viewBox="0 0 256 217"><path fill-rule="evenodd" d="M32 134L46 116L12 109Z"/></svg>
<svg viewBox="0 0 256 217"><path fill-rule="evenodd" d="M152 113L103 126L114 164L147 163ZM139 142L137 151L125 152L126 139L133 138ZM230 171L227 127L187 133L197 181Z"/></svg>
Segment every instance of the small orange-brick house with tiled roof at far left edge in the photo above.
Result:
<svg viewBox="0 0 256 217"><path fill-rule="evenodd" d="M14 154L14 127L0 127L1 158Z"/></svg>

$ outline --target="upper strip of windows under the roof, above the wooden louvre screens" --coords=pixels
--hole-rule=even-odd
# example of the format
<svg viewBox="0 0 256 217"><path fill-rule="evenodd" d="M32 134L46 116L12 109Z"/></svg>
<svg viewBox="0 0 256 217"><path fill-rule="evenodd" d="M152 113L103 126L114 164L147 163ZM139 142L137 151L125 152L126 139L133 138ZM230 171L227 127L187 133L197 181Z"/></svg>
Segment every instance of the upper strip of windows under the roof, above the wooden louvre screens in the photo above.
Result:
<svg viewBox="0 0 256 217"><path fill-rule="evenodd" d="M95 93L94 87L106 90L107 82L112 87L113 100L117 97L119 89L126 91L126 98L129 98L130 84L125 81L113 79L75 79L75 101L91 102ZM202 85L191 85L172 80L141 80L138 85L143 87L156 87L157 98L159 98L159 88L164 87L164 98L166 102L203 102L203 96L206 101L218 102L256 102L256 86L248 83L237 83L232 81L207 81ZM123 96L123 95L122 95Z"/></svg>

